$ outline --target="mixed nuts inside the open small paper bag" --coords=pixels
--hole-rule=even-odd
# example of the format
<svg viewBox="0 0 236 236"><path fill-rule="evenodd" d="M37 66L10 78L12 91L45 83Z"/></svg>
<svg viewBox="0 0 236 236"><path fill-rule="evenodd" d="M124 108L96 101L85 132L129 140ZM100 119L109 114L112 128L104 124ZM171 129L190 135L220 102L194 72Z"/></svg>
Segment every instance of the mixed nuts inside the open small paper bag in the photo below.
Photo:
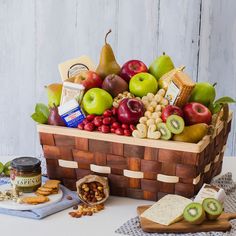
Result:
<svg viewBox="0 0 236 236"><path fill-rule="evenodd" d="M105 198L103 185L97 181L84 183L80 186L79 196L88 203L100 202Z"/></svg>

